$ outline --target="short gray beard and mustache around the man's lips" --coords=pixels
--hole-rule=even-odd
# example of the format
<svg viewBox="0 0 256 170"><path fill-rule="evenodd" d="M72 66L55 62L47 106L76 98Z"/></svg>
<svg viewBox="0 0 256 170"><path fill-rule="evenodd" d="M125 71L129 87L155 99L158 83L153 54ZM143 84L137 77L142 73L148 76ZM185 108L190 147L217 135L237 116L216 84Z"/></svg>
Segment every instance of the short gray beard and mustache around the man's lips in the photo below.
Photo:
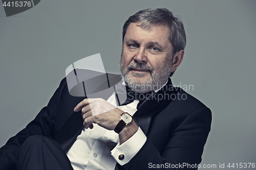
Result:
<svg viewBox="0 0 256 170"><path fill-rule="evenodd" d="M125 84L135 92L146 93L149 91L155 91L164 85L164 83L169 78L170 72L172 71L173 68L172 59L173 57L171 57L171 59L168 61L167 67L165 67L165 69L158 71L154 71L152 67L137 62L129 64L126 68L124 68L124 66L121 63L122 59L120 60L119 66ZM144 81L135 80L134 78L131 78L129 75L129 72L131 71L132 68L149 70L151 76ZM136 78L140 78L143 75L144 74L140 74L137 72L133 73L133 76Z"/></svg>

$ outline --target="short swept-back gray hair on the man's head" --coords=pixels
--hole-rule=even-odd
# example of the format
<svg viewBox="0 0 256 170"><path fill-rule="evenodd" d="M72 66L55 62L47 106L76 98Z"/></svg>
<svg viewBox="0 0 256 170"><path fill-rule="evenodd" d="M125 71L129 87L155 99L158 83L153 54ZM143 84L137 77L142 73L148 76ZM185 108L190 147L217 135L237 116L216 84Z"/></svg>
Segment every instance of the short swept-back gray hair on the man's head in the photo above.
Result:
<svg viewBox="0 0 256 170"><path fill-rule="evenodd" d="M123 25L123 39L130 23L139 23L139 27L150 30L153 26L167 26L169 28L168 39L173 46L172 56L186 46L186 34L182 21L175 17L172 12L166 8L146 9L137 12L129 17ZM170 76L174 72L170 73Z"/></svg>

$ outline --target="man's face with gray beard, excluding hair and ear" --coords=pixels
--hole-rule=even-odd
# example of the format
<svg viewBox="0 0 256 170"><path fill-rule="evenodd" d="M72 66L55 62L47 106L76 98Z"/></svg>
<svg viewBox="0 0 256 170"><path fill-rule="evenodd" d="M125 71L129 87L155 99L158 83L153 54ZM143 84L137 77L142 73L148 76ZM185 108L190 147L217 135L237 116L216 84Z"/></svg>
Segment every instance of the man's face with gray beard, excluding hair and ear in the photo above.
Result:
<svg viewBox="0 0 256 170"><path fill-rule="evenodd" d="M173 46L168 40L167 26L143 29L130 23L123 39L120 70L133 91L157 90L173 71Z"/></svg>

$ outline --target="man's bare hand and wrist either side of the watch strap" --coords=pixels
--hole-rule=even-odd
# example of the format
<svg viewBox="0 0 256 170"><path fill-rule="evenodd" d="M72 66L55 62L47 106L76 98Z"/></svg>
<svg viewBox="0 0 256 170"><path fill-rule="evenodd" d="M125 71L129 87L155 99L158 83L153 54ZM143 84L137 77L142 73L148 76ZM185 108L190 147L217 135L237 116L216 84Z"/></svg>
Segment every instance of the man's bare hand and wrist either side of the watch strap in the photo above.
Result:
<svg viewBox="0 0 256 170"><path fill-rule="evenodd" d="M114 130L124 113L103 99L84 99L74 108L75 112L79 110L82 111L83 126L86 129L92 129L92 124L95 123L105 129ZM132 137L138 129L134 120L126 125L119 133L120 144Z"/></svg>

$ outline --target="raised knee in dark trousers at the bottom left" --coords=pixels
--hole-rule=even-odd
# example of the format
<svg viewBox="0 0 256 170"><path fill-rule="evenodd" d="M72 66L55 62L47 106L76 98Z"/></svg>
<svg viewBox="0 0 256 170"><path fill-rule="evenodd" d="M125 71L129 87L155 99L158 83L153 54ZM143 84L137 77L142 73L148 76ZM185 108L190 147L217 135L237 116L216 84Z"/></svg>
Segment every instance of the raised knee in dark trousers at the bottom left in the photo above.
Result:
<svg viewBox="0 0 256 170"><path fill-rule="evenodd" d="M60 145L45 136L29 137L20 147L15 159L18 170L73 170Z"/></svg>

